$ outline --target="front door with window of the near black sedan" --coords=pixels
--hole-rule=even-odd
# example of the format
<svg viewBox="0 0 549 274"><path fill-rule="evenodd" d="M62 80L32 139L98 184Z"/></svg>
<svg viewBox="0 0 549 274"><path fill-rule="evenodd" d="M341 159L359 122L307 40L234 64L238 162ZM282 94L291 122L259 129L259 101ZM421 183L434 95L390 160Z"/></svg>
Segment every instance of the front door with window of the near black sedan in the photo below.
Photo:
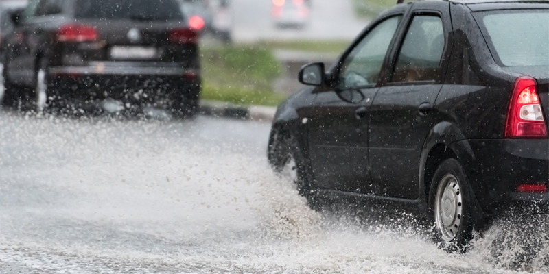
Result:
<svg viewBox="0 0 549 274"><path fill-rule="evenodd" d="M309 121L312 171L322 188L369 192L368 111L401 14L386 16L355 42L318 92Z"/></svg>

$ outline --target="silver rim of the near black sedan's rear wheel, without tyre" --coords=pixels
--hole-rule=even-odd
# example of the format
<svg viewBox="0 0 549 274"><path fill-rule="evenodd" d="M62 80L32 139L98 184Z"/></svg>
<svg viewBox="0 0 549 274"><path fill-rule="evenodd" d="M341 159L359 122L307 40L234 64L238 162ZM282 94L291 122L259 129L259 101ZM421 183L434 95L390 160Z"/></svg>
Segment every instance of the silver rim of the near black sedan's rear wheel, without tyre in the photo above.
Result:
<svg viewBox="0 0 549 274"><path fill-rule="evenodd" d="M442 238L450 242L456 238L463 219L463 194L458 179L452 174L445 175L436 190L436 227Z"/></svg>

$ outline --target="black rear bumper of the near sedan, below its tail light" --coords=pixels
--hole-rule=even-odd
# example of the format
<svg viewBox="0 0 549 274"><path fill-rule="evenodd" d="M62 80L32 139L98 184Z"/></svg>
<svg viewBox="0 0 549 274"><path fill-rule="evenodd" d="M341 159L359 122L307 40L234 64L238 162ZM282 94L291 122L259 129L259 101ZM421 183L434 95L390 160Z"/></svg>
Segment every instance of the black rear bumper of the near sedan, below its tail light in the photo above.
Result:
<svg viewBox="0 0 549 274"><path fill-rule="evenodd" d="M522 203L549 205L549 193L517 192L519 184L549 184L549 140L463 140L460 162L489 213Z"/></svg>

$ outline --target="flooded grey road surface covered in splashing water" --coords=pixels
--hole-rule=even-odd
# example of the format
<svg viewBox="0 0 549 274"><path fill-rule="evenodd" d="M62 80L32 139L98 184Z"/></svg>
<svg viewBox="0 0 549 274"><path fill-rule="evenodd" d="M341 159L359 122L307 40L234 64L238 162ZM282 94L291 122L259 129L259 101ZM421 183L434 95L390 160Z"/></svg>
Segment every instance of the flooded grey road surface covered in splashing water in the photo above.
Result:
<svg viewBox="0 0 549 274"><path fill-rule="evenodd" d="M524 265L519 245L495 252L498 225L458 256L406 223L309 210L267 164L267 123L1 112L0 128L0 273L548 271L546 240Z"/></svg>

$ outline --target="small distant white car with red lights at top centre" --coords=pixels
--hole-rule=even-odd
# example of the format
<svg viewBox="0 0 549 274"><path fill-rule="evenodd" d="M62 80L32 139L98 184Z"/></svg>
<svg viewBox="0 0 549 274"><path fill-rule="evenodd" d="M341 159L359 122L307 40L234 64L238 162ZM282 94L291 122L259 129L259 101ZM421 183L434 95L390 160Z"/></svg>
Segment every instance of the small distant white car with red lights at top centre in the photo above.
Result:
<svg viewBox="0 0 549 274"><path fill-rule="evenodd" d="M272 18L277 27L303 28L309 21L310 1L272 0Z"/></svg>

